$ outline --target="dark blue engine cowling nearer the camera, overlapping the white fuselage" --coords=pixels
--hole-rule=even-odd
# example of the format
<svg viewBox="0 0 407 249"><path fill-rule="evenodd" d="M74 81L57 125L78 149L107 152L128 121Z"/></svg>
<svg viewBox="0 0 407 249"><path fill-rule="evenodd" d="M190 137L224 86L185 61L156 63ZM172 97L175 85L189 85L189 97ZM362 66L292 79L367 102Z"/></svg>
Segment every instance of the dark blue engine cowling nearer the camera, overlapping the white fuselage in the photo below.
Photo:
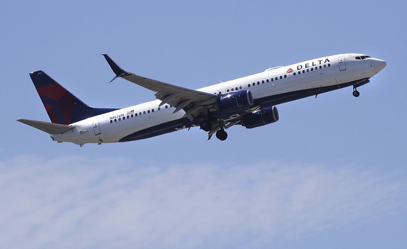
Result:
<svg viewBox="0 0 407 249"><path fill-rule="evenodd" d="M245 110L253 105L253 95L249 90L230 92L220 96L216 106L221 113Z"/></svg>

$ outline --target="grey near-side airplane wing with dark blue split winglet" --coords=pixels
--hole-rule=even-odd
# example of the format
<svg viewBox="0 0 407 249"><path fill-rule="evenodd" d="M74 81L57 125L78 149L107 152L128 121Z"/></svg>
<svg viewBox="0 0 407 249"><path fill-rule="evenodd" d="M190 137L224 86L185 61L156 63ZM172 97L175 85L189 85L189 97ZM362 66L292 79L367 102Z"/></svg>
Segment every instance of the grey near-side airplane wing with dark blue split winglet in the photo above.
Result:
<svg viewBox="0 0 407 249"><path fill-rule="evenodd" d="M204 93L188 88L174 86L155 79L146 78L123 70L107 54L102 54L116 76L110 80L121 77L141 87L150 89L155 93L157 99L161 100L160 106L167 103L176 107L173 113L183 109L185 116L191 121L199 114L205 114L219 98L216 94Z"/></svg>

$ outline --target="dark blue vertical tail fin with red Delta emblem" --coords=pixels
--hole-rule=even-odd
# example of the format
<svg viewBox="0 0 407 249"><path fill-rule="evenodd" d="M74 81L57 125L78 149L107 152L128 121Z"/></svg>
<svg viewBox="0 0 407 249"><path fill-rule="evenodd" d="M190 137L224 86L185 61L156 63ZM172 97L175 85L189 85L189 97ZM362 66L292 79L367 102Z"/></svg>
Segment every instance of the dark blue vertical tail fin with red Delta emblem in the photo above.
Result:
<svg viewBox="0 0 407 249"><path fill-rule="evenodd" d="M32 72L30 77L52 123L68 125L116 110L86 105L43 71Z"/></svg>

